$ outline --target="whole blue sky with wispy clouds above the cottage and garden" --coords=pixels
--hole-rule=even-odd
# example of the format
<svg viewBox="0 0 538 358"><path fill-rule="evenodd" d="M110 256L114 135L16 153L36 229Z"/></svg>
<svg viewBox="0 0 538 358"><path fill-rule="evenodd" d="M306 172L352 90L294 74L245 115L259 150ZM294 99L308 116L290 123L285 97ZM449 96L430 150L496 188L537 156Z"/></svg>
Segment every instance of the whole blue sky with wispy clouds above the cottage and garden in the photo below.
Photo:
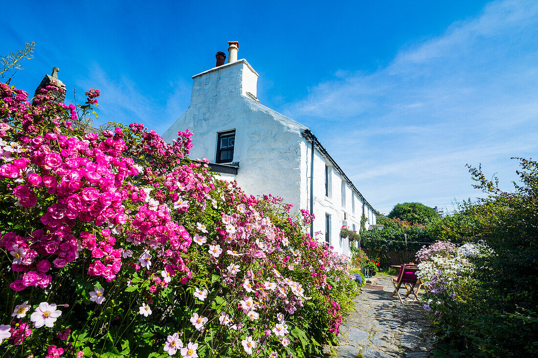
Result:
<svg viewBox="0 0 538 358"><path fill-rule="evenodd" d="M380 212L452 208L479 193L465 164L511 188L538 150L538 2L48 2L3 4L0 54L36 41L12 84L60 68L100 121L164 132L191 77L226 41L260 74L263 104L310 127ZM98 123L97 123L98 124Z"/></svg>

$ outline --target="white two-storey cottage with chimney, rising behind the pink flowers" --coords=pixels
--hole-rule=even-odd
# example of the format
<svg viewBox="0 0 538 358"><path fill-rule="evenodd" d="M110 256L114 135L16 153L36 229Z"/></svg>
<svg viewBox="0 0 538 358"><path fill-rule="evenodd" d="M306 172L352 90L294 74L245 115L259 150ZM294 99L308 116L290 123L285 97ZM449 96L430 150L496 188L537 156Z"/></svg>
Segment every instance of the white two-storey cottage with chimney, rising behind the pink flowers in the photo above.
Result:
<svg viewBox="0 0 538 358"><path fill-rule="evenodd" d="M349 254L343 225L359 230L376 223L374 208L304 125L265 107L257 98L258 73L237 60L238 43L229 43L228 63L193 76L190 106L162 136L194 133L191 158L208 158L224 180L237 180L247 194L273 194L295 210L313 212L310 233L319 231L335 250Z"/></svg>

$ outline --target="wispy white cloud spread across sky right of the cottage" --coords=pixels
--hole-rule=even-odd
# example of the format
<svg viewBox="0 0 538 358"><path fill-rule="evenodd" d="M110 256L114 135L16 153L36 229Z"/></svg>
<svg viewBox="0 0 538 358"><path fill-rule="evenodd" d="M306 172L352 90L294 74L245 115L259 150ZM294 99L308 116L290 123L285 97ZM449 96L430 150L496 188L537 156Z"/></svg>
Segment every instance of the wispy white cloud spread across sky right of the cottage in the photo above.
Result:
<svg viewBox="0 0 538 358"><path fill-rule="evenodd" d="M479 195L466 163L508 187L509 157L538 151L536 38L538 2L492 2L378 71L338 71L285 113L320 134L381 212Z"/></svg>

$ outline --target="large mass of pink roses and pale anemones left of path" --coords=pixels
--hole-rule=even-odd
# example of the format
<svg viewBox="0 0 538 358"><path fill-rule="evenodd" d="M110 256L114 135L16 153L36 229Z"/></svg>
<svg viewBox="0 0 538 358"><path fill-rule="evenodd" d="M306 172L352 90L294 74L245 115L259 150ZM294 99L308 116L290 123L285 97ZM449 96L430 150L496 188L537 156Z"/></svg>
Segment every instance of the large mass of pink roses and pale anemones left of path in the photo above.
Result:
<svg viewBox="0 0 538 358"><path fill-rule="evenodd" d="M9 356L319 354L357 289L313 215L246 195L133 123L89 131L97 104L27 101L0 83L0 282Z"/></svg>

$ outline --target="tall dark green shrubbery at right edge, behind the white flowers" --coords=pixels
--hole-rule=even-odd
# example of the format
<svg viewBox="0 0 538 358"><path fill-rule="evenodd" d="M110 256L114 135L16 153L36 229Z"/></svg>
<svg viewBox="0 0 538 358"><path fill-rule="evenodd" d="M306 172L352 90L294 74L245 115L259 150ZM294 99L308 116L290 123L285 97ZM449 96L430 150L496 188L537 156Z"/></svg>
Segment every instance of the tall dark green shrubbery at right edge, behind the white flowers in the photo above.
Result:
<svg viewBox="0 0 538 358"><path fill-rule="evenodd" d="M471 257L475 270L458 283L452 314L433 315L437 356L538 355L538 163L521 159L521 183L504 192L498 180L469 167L487 196L464 202L434 231L457 240L482 241L493 254ZM443 299L443 298L441 298Z"/></svg>

